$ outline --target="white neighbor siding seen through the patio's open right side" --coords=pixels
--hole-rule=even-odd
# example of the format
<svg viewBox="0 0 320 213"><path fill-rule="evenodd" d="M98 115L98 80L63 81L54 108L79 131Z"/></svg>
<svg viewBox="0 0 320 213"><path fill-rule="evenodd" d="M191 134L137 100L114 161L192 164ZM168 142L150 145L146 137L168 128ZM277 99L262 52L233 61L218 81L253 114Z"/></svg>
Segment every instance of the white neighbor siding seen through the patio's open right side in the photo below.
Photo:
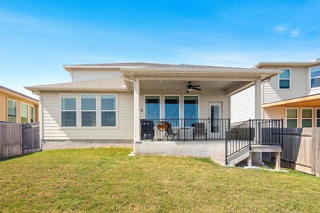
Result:
<svg viewBox="0 0 320 213"><path fill-rule="evenodd" d="M231 96L230 122L240 122L254 119L254 86Z"/></svg>

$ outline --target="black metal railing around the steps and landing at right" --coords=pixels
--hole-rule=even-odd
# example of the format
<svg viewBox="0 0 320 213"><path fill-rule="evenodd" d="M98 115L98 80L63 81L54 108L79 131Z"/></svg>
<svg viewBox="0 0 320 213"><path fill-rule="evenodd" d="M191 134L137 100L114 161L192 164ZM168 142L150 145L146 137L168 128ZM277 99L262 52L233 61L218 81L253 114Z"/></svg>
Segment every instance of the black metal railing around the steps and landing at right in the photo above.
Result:
<svg viewBox="0 0 320 213"><path fill-rule="evenodd" d="M248 120L230 124L225 133L225 164L227 157L252 144L281 146L283 120Z"/></svg>

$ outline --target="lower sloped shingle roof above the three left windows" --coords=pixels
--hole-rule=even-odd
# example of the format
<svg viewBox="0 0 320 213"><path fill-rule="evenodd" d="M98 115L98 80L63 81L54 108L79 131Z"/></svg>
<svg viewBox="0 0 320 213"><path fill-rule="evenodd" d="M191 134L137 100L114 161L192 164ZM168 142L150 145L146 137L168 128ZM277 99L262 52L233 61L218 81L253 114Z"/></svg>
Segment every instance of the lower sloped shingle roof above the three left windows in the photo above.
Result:
<svg viewBox="0 0 320 213"><path fill-rule="evenodd" d="M97 80L87 80L87 81L76 81L76 82L68 82L68 83L59 83L59 84L46 84L46 85L38 85L34 87L101 87L101 88L109 88L109 87L125 87L124 81L122 77L115 78L104 78Z"/></svg>

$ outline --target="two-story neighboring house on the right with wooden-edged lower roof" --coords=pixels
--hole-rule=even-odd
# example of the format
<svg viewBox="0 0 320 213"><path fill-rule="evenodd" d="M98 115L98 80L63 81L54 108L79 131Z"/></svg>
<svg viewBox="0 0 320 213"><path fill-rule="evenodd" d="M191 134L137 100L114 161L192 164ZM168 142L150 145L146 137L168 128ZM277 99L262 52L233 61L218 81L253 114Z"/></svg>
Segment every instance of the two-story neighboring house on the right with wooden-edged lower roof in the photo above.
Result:
<svg viewBox="0 0 320 213"><path fill-rule="evenodd" d="M259 62L254 68L283 71L261 82L262 119L283 119L284 127L320 127L320 58ZM254 119L254 93L251 87L231 97L231 122Z"/></svg>

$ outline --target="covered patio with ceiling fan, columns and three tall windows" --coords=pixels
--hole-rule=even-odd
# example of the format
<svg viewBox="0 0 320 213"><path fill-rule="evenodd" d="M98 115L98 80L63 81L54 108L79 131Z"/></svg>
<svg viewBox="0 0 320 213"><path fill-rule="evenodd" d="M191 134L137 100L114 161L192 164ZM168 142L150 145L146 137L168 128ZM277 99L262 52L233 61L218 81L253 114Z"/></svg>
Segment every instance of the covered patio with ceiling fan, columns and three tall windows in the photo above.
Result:
<svg viewBox="0 0 320 213"><path fill-rule="evenodd" d="M160 121L171 124L176 134L174 141L225 139L224 133L229 129L230 96L254 85L255 117L260 119L260 82L282 72L183 64L141 64L120 70L134 97L134 143L157 142L161 138L170 141L165 140L157 128ZM196 89L189 88L190 84ZM141 120L152 121L154 132L144 135ZM204 127L203 134L198 136L197 124Z"/></svg>

